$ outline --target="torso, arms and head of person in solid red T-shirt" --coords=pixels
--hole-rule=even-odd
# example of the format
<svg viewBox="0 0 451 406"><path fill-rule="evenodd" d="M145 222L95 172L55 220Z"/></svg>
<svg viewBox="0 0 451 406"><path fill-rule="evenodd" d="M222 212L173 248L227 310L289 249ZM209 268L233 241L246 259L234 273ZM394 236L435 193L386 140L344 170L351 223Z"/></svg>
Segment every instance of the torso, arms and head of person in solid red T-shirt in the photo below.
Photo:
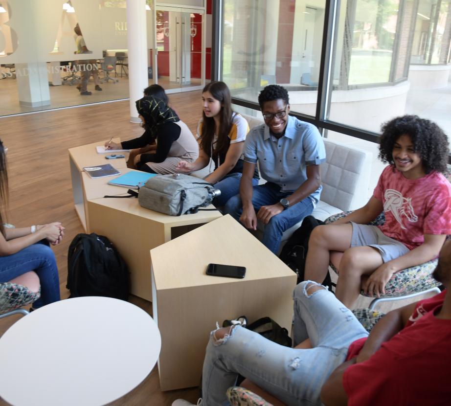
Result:
<svg viewBox="0 0 451 406"><path fill-rule="evenodd" d="M433 276L448 288L451 242L440 251ZM451 405L451 294L383 316L368 338L354 341L347 361L321 389L325 406Z"/></svg>

